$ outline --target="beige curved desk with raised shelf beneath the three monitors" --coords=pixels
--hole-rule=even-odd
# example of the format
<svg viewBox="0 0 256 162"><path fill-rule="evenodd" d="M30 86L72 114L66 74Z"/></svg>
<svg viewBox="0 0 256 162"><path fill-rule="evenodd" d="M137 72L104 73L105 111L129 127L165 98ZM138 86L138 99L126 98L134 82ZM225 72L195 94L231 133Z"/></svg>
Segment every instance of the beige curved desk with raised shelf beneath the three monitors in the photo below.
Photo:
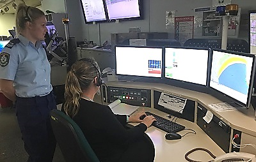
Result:
<svg viewBox="0 0 256 162"><path fill-rule="evenodd" d="M172 156L179 157L179 161L185 161L184 154L186 154L186 152L190 151L195 147L204 147L206 149L209 149L215 156L224 154L224 151L222 151L220 147L218 147L218 145L215 142L213 142L213 140L196 124L198 104L202 105L207 110L211 111L212 114L214 114L216 117L221 119L221 121L225 122L225 124L230 126L231 140L233 138L233 131L237 130L241 131L241 144L256 144L256 122L254 120L255 112L253 108L244 110L227 110L223 112L216 112L215 110L212 110L211 107L208 107L208 105L212 103L221 103L223 101L220 101L220 99L214 98L213 96L202 92L182 89L180 87L174 87L172 85L152 84L145 82L106 82L106 84L108 86L113 87L127 87L133 89L150 90L151 108L145 108L145 110L153 112L154 114L157 114L162 117L166 117L166 114L154 108L154 102L157 102L154 101L154 91L167 92L168 94L172 94L174 96L179 96L182 98L191 99L192 101L195 101L195 121L189 122L185 119L178 119L177 122L179 124L186 126L186 128L194 129L197 135L189 134L184 136L184 138L182 138L181 140L168 141L165 140L164 138L164 135L166 134L164 131L161 131L154 127L148 128L147 134L148 136L150 136L150 138L152 138L156 147L156 161L166 161L166 157L171 159ZM186 133L187 131L181 131L180 135L184 135L182 134L183 132ZM230 144L230 148L231 147L232 146ZM256 154L256 150L252 149L252 147L250 146L240 149L240 151ZM193 154L195 154L195 156ZM206 152L202 153L201 151L195 152L193 154L191 154L191 158L193 159L203 157L202 155L209 157Z"/></svg>

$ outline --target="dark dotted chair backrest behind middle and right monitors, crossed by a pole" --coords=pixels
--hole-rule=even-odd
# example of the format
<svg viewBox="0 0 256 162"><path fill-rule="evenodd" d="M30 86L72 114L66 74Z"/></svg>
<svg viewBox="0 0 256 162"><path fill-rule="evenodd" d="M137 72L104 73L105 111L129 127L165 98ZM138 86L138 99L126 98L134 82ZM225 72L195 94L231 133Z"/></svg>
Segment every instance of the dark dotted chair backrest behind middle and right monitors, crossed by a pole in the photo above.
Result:
<svg viewBox="0 0 256 162"><path fill-rule="evenodd" d="M208 47L208 48L221 48L221 39L189 39L184 43L184 47ZM237 52L250 52L250 45L245 40L227 40L227 50Z"/></svg>

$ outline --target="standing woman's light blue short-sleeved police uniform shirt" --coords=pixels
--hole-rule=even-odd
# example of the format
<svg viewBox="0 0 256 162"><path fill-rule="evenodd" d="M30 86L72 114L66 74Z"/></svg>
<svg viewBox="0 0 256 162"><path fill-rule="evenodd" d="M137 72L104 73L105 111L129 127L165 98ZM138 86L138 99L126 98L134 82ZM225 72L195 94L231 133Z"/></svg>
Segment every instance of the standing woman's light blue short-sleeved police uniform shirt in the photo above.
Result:
<svg viewBox="0 0 256 162"><path fill-rule="evenodd" d="M0 54L0 78L13 80L21 98L45 96L52 91L51 65L40 41L36 45L19 35L18 43L8 43Z"/></svg>

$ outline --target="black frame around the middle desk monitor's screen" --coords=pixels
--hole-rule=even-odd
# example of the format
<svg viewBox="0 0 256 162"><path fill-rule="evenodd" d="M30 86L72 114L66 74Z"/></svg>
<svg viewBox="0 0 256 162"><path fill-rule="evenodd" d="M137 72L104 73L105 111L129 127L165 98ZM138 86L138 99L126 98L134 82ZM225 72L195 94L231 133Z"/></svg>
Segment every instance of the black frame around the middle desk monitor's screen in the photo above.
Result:
<svg viewBox="0 0 256 162"><path fill-rule="evenodd" d="M182 49L192 49L192 50L207 50L208 51L208 59L207 59L207 77L206 77L206 80L205 80L205 85L203 84L196 84L196 83L193 83L193 82L188 82L188 81L184 81L184 80L178 80L178 79L175 79L175 78L167 78L165 77L165 48L182 48ZM177 83L177 84L186 84L188 86L190 85L196 85L196 86L201 86L201 87L208 87L209 86L209 65L210 65L210 57L211 57L211 50L210 48L207 48L207 47L177 47L177 46L164 46L164 49L163 49L163 78L164 80L172 80L173 82ZM174 83L174 84L175 84ZM184 87L186 87L186 85L184 85ZM175 85L176 86L176 85ZM179 86L180 87L180 86ZM195 90L196 91L196 90Z"/></svg>

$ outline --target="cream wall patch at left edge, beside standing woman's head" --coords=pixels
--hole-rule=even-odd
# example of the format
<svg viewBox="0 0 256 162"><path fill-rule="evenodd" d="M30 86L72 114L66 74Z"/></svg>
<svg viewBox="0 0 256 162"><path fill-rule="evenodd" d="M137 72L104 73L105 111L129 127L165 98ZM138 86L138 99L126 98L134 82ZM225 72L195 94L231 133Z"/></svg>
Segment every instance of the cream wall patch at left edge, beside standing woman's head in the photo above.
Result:
<svg viewBox="0 0 256 162"><path fill-rule="evenodd" d="M0 36L10 36L8 30L15 26L15 15L4 14L0 15Z"/></svg>

